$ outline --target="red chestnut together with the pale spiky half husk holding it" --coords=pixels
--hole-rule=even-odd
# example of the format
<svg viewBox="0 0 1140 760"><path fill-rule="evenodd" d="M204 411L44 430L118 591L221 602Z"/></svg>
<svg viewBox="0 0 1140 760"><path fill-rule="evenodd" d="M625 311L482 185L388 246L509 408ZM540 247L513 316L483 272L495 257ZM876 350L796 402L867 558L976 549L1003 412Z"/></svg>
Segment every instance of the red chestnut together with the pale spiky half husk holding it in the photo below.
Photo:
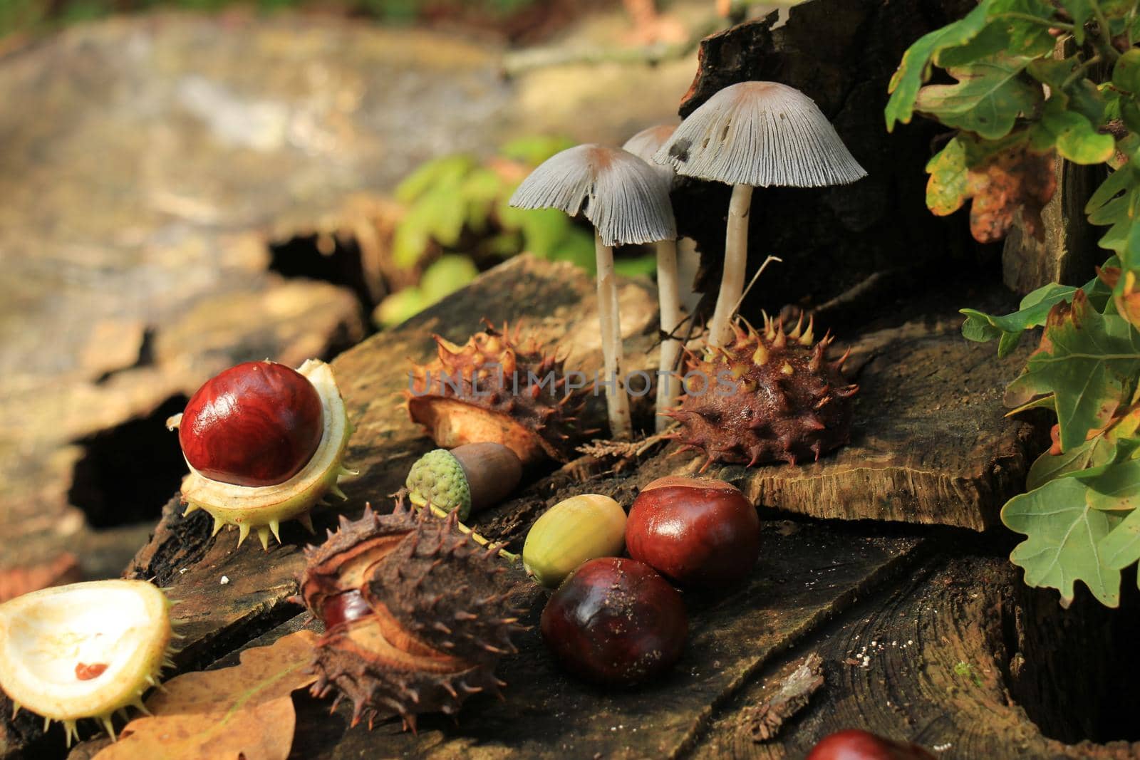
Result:
<svg viewBox="0 0 1140 760"><path fill-rule="evenodd" d="M332 368L310 359L299 370L272 361L247 361L206 381L166 420L190 474L182 481L186 513L204 509L214 534L237 525L241 546L251 530L262 548L280 541L280 523L298 520L309 531L309 510L332 493L348 469L349 423Z"/></svg>

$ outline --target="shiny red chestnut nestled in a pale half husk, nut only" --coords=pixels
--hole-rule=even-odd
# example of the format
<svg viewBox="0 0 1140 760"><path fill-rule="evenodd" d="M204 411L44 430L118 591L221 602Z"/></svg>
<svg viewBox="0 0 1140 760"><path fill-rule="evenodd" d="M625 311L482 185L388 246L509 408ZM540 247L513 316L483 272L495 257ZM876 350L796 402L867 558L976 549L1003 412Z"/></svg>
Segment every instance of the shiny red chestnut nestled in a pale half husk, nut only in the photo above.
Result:
<svg viewBox="0 0 1140 760"><path fill-rule="evenodd" d="M324 433L320 397L303 375L247 361L206 381L182 412L178 441L202 475L235 485L284 483Z"/></svg>

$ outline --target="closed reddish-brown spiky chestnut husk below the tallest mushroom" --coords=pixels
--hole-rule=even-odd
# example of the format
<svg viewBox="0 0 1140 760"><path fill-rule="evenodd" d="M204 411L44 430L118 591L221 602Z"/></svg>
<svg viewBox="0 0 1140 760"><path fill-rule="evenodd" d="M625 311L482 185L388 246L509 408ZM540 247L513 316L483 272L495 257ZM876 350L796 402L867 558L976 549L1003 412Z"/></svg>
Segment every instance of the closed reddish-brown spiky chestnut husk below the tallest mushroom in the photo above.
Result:
<svg viewBox="0 0 1140 760"><path fill-rule="evenodd" d="M814 342L814 324L809 320L805 329L803 316L791 330L765 314L763 332L739 322L733 332L731 344L687 354L686 371L701 373L707 386L693 376L694 387L686 389L681 406L665 412L681 422L673 438L683 450L699 449L708 457L702 469L714 461L793 465L850 440L858 386L841 371L849 351L829 361L833 338ZM731 375L734 392L718 392L723 373Z"/></svg>

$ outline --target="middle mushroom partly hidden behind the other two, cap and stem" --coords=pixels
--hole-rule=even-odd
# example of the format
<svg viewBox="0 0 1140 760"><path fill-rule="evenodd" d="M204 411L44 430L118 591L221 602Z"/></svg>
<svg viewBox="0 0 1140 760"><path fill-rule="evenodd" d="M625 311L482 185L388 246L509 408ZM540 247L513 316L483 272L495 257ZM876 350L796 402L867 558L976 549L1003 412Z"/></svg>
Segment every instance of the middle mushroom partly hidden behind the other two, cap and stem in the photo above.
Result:
<svg viewBox="0 0 1140 760"><path fill-rule="evenodd" d="M674 124L658 124L650 126L634 134L621 146L642 161L652 165L671 186L676 173L671 166L662 166L653 163L653 154L657 153L674 130ZM681 327L681 288L677 284L677 239L657 242L657 299L661 311L661 332L673 335ZM677 363L677 356L681 353L681 341L667 337L661 341L661 360L658 363L657 385L657 432L661 432L668 426L669 419L661 412L673 406L677 400L677 391L681 387L674 366Z"/></svg>

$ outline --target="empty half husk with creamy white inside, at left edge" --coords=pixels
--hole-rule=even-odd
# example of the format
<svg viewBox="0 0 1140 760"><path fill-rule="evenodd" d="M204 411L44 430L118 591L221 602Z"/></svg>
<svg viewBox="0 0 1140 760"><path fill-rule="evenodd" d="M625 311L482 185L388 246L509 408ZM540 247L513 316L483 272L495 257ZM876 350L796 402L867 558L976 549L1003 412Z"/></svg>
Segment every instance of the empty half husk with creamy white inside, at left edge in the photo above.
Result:
<svg viewBox="0 0 1140 760"><path fill-rule="evenodd" d="M146 712L142 694L172 665L172 603L140 580L106 580L32 591L0 605L0 687L15 703L64 724Z"/></svg>

